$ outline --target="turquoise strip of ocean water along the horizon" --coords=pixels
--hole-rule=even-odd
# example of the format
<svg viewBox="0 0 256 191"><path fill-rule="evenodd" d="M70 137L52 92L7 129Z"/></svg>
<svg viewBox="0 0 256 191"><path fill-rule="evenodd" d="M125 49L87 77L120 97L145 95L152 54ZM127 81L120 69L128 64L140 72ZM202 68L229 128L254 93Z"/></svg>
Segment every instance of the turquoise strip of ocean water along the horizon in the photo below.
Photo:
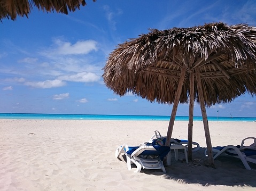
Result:
<svg viewBox="0 0 256 191"><path fill-rule="evenodd" d="M41 114L41 113L0 113L0 119L69 119L69 120L135 120L169 121L169 116L160 115L92 115L92 114ZM188 116L176 116L177 121L188 121ZM193 117L202 121L202 117ZM256 118L208 117L208 121L256 121Z"/></svg>

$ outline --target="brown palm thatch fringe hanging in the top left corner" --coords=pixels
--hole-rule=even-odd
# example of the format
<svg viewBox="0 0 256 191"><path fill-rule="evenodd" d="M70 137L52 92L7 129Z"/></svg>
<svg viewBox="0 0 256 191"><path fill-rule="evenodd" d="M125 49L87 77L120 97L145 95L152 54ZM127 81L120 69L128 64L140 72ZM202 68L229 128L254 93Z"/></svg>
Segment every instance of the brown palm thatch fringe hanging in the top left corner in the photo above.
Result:
<svg viewBox="0 0 256 191"><path fill-rule="evenodd" d="M92 0L96 1L96 0ZM80 6L86 5L84 0L0 0L0 20L7 18L15 20L17 15L27 16L31 12L33 6L38 9L50 12L68 14L68 11L79 10Z"/></svg>

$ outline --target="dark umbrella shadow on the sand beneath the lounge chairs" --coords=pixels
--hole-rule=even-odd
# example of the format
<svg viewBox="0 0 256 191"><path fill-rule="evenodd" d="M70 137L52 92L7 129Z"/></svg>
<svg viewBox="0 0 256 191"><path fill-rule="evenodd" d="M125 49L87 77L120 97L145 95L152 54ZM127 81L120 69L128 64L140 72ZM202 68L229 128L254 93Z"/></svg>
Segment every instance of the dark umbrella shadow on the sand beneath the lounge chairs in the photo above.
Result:
<svg viewBox="0 0 256 191"><path fill-rule="evenodd" d="M172 164L166 167L164 178L174 180L180 184L199 184L203 186L249 186L256 187L256 164L249 163L254 170L246 170L241 160L222 155L214 160L215 168L208 167L208 159L204 156L205 148L193 153L193 161L188 164L184 160L184 153L180 153L179 161L175 161L172 153ZM143 169L146 174L159 176L160 171Z"/></svg>

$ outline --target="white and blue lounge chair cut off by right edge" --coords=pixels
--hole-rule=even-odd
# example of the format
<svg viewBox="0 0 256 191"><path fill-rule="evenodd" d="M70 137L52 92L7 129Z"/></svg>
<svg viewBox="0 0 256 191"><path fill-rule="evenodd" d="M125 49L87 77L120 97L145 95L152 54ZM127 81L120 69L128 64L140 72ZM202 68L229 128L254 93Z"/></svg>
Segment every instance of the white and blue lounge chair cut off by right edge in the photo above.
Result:
<svg viewBox="0 0 256 191"><path fill-rule="evenodd" d="M253 144L249 146L245 146L244 142L247 139L253 139ZM238 146L227 145L227 146L213 147L213 152L217 153L216 155L214 155L213 159L216 159L216 157L224 153L229 156L240 159L247 170L252 170L248 162L252 162L256 164L256 138L247 137L243 139L241 145L238 145ZM205 156L207 156L207 150L205 150Z"/></svg>

